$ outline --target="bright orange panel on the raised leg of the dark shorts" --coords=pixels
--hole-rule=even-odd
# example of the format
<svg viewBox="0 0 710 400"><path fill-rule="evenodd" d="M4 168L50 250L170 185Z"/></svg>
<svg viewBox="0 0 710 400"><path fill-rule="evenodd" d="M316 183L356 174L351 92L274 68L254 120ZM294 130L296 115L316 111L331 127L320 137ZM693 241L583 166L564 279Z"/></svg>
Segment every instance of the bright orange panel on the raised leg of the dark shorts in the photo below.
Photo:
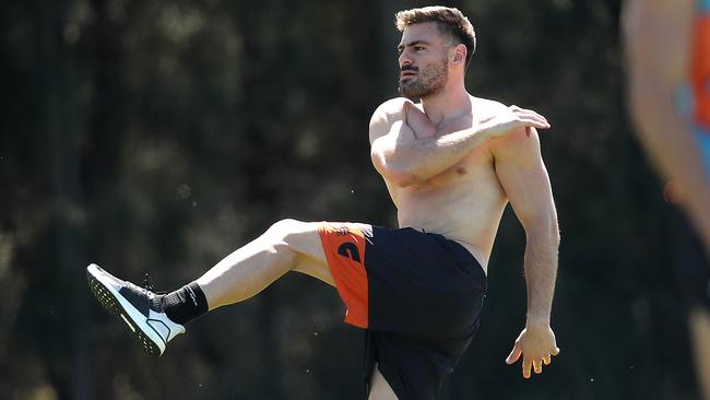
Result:
<svg viewBox="0 0 710 400"><path fill-rule="evenodd" d="M350 224L323 222L318 228L328 266L347 311L345 322L368 327L368 289L363 232Z"/></svg>

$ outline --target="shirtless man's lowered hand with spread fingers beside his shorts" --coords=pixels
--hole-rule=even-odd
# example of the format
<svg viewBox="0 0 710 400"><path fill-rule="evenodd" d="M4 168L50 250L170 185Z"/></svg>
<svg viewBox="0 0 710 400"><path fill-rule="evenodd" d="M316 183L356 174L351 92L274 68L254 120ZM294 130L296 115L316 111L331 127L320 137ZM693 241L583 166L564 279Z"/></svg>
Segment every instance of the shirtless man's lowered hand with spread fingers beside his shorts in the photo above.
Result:
<svg viewBox="0 0 710 400"><path fill-rule="evenodd" d="M513 364L522 355L522 376L530 378L531 367L535 374L543 372L543 363L552 363L552 356L559 354L559 348L555 342L555 333L547 323L528 325L522 330L510 355L506 358L507 364Z"/></svg>

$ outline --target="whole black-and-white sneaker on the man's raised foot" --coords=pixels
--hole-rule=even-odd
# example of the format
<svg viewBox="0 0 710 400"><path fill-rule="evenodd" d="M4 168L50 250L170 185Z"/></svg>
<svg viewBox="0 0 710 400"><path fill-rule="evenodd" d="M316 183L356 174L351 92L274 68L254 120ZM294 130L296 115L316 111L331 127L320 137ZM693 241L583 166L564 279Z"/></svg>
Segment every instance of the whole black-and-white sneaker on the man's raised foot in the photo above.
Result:
<svg viewBox="0 0 710 400"><path fill-rule="evenodd" d="M121 281L92 263L86 267L88 287L104 308L120 318L143 350L161 356L167 342L185 333L185 328L173 322L157 308L155 293Z"/></svg>

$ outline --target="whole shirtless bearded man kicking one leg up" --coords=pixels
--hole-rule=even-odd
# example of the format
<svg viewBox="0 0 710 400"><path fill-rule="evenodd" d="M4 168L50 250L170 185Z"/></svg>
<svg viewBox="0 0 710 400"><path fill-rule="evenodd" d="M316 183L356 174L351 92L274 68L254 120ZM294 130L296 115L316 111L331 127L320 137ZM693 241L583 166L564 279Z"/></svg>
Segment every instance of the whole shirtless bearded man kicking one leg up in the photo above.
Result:
<svg viewBox="0 0 710 400"><path fill-rule="evenodd" d="M469 21L441 7L398 13L400 91L370 121L372 163L400 228L284 220L197 281L156 295L95 264L92 291L159 355L182 325L244 301L295 270L335 286L345 321L367 333L369 399L434 399L478 328L486 270L510 201L528 245L528 321L506 360L542 372L559 352L549 327L559 235L535 128L545 118L466 93Z"/></svg>

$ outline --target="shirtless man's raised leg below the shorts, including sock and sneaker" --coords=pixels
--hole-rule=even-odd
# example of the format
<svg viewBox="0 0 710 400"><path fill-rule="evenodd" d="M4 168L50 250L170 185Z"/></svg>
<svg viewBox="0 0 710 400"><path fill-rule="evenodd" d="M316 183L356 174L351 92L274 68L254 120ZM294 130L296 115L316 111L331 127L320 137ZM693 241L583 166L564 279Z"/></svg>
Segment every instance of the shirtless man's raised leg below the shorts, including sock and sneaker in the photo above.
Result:
<svg viewBox="0 0 710 400"><path fill-rule="evenodd" d="M99 304L126 323L143 350L159 356L170 340L185 332L188 321L249 298L291 270L334 285L318 227L319 223L280 221L196 282L165 295L120 280L94 263L86 267L86 278Z"/></svg>

